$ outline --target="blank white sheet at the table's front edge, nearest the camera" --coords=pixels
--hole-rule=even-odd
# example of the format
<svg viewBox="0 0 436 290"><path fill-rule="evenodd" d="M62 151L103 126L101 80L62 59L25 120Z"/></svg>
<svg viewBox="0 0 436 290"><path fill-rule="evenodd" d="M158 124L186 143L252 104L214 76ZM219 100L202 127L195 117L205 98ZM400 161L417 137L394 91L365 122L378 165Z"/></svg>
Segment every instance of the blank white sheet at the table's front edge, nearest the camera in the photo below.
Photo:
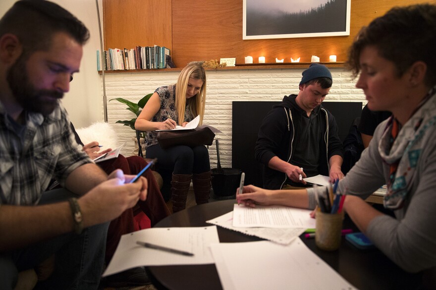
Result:
<svg viewBox="0 0 436 290"><path fill-rule="evenodd" d="M224 290L355 289L300 239L211 245Z"/></svg>

